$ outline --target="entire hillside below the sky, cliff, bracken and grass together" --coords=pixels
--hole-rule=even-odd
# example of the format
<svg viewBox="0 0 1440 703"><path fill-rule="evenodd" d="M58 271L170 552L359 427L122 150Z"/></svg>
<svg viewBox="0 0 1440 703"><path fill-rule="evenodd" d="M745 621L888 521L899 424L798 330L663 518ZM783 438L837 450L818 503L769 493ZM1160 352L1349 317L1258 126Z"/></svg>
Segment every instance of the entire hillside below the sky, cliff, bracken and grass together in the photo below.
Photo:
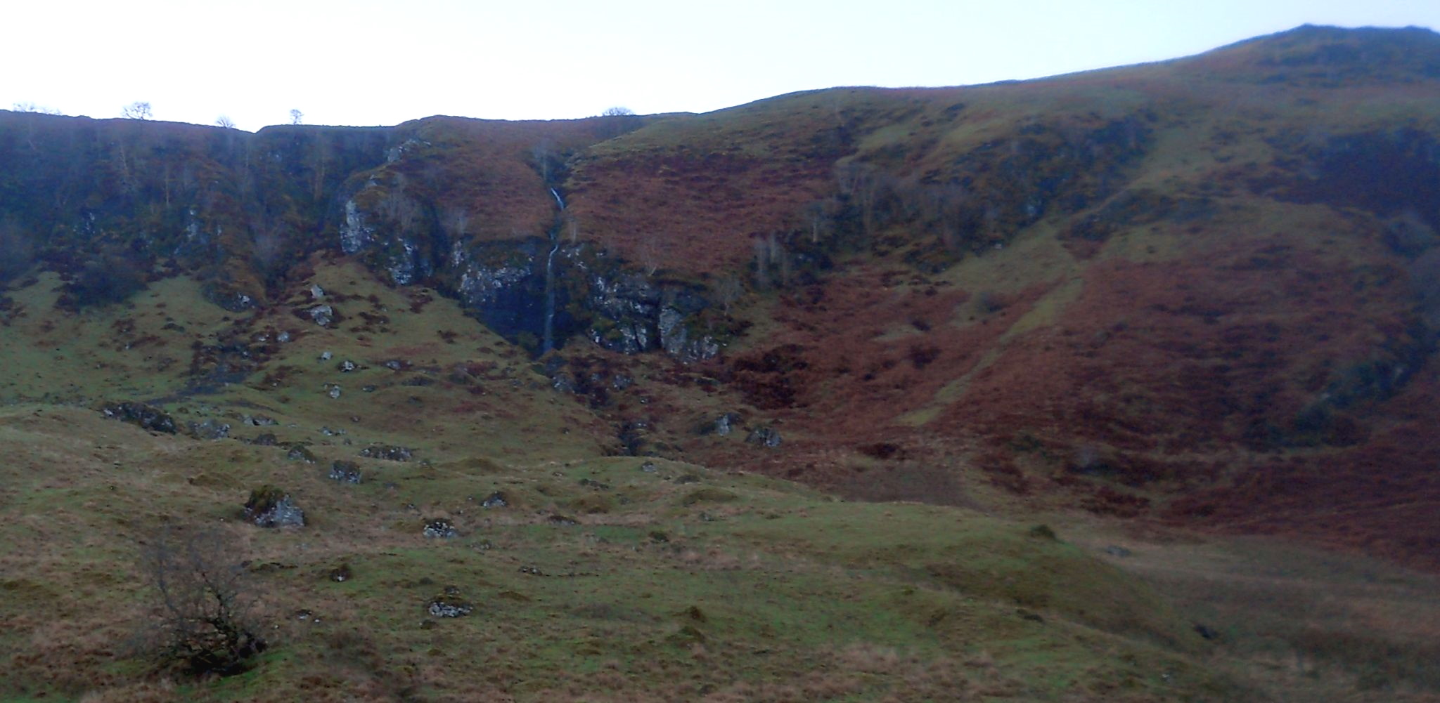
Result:
<svg viewBox="0 0 1440 703"><path fill-rule="evenodd" d="M1437 227L1420 29L704 115L0 111L0 697L1436 700ZM132 645L167 526L245 558L238 676Z"/></svg>

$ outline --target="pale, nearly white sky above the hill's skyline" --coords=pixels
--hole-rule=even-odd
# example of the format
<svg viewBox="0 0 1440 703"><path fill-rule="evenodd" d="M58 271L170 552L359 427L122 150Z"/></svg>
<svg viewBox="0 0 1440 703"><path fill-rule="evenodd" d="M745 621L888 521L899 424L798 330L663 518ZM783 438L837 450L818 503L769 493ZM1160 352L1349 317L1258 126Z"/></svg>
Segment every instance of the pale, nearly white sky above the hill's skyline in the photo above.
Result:
<svg viewBox="0 0 1440 703"><path fill-rule="evenodd" d="M1200 53L1297 24L1440 27L1440 0L12 1L0 108L240 128L706 112Z"/></svg>

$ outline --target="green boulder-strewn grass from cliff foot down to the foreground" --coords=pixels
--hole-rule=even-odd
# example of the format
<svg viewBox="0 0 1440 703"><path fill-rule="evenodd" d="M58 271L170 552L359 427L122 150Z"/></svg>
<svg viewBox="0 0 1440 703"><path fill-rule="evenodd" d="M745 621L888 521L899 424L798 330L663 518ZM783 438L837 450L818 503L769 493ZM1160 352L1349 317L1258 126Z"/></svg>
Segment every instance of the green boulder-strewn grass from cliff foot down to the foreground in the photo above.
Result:
<svg viewBox="0 0 1440 703"><path fill-rule="evenodd" d="M729 470L654 460L647 472L644 459L605 457L612 428L541 385L452 303L384 288L350 263L321 262L314 282L344 316L338 329L300 321L291 306L239 321L183 309L193 286L183 279L79 316L37 315L48 282L16 293L29 315L12 321L24 334L6 335L10 358L43 339L48 358L75 359L63 368L69 378L104 388L89 392L168 397L177 420L225 420L242 440L153 436L86 407L36 403L40 385L7 375L7 392L22 398L0 411L0 539L13 545L0 569L0 650L10 653L0 696L1284 700L1267 683L1279 674L1250 667L1299 650L1310 630L1279 643L1233 630L1215 648L1191 622L1243 622L1250 605L1223 601L1234 610L1214 612L1208 576L1164 571L1191 562L1174 545L1130 539L1143 559L1104 564L1094 549L1103 525L1066 523L1056 541L1031 522L963 507L841 502L743 473L743 460L721 464ZM311 303L304 289L289 299ZM389 321L357 329L360 311ZM130 319L143 338L167 315L199 339L232 325L251 335L289 329L294 339L246 382L187 394L189 378L82 334ZM71 334L45 336L29 328L39 319ZM446 344L438 331L452 329ZM323 351L334 358L320 362ZM384 368L390 358L410 367ZM361 368L341 372L340 359ZM81 375L96 362L107 380ZM456 364L478 374L452 378ZM415 378L432 382L405 384ZM324 392L327 382L341 384L340 398ZM377 388L360 391L366 384ZM239 423L256 414L278 424ZM308 443L320 463L243 441L262 431ZM415 447L416 460L357 457L374 441ZM359 461L366 482L325 479L334 459ZM239 505L262 483L291 492L308 525L245 525ZM508 507L478 506L497 490ZM420 536L431 518L451 519L461 536ZM233 558L251 565L261 610L278 627L255 670L199 684L147 674L132 648L145 618L137 553L167 523L216 526L239 545ZM341 564L354 576L328 581ZM1392 574L1400 589L1380 594L1377 607L1428 588ZM425 602L448 585L478 610L428 617ZM1410 656L1418 650L1407 633L1380 641ZM1323 667L1283 676L1320 671L1325 681L1312 687L1331 700L1368 700L1356 683L1368 660L1341 650ZM1403 673L1398 681L1427 676L1418 664ZM1410 686L1378 690L1423 700Z"/></svg>

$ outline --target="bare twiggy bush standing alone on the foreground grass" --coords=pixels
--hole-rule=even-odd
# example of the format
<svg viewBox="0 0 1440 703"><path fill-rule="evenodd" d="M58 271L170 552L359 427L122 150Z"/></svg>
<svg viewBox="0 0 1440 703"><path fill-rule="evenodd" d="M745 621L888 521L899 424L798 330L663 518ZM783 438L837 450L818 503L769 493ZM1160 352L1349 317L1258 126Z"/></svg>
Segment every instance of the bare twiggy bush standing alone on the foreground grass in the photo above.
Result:
<svg viewBox="0 0 1440 703"><path fill-rule="evenodd" d="M151 587L151 648L161 666L233 674L265 650L255 589L236 541L213 529L166 529L141 553Z"/></svg>

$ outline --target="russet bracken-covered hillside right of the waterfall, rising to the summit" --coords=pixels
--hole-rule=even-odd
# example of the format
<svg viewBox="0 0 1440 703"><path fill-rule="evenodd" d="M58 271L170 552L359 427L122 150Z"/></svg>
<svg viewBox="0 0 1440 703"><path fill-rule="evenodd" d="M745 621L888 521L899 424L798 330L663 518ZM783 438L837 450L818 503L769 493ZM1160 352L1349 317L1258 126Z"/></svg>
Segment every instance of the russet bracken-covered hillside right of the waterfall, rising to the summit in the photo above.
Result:
<svg viewBox="0 0 1440 703"><path fill-rule="evenodd" d="M732 355L785 346L804 365L772 378L795 391L789 407L727 400L801 440L765 470L864 490L874 461L857 449L891 443L912 464L883 466L917 486L883 496L960 502L939 474L981 466L1008 489L1058 489L1094 510L1246 520L1433 566L1440 552L1423 525L1440 484L1426 460L1405 459L1434 447L1423 430L1440 421L1433 374L1346 411L1355 446L1254 449L1257 434L1295 427L1326 384L1408 336L1414 283L1382 243L1387 214L1290 194L1313 178L1296 165L1303 148L1397 125L1436 132L1424 63L1434 37L1401 35L1303 29L1047 81L832 89L677 116L589 152L572 211L632 259L719 276L743 270L756 234L804 231L801 207L835 191L837 164L973 178L979 197L999 198L1014 183L976 171L976 154L1081 144L1093 164L1040 161L1024 177L1061 178L1089 203L1050 207L1004 249L917 272L910 262L939 243L896 226L858 256L831 252L840 263L818 285L750 300L742 316L755 326ZM1100 188L1086 174L1116 145L1083 135L1126 118L1148 129L1142 154ZM1089 240L1074 234L1084 223L1109 230ZM687 449L737 456L708 440ZM1102 456L1112 474L1071 476L1080 454ZM927 476L914 461L946 469ZM1328 479L1306 479L1315 470ZM1336 496L1349 503L1344 528L1313 510Z"/></svg>

